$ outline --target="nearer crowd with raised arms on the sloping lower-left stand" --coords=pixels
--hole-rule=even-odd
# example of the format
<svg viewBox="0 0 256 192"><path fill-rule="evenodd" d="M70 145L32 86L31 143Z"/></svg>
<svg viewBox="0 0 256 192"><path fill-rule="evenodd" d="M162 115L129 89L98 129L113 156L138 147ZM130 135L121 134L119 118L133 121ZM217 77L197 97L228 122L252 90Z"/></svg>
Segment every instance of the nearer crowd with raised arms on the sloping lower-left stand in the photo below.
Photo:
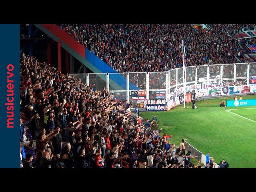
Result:
<svg viewBox="0 0 256 192"><path fill-rule="evenodd" d="M20 57L20 167L195 168L180 147L160 136L157 118L133 116L126 100L94 90L33 56ZM183 144L182 144L183 143ZM199 163L199 162L198 162ZM211 168L214 160L206 166ZM222 167L225 167L226 164ZM228 166L226 166L228 167Z"/></svg>

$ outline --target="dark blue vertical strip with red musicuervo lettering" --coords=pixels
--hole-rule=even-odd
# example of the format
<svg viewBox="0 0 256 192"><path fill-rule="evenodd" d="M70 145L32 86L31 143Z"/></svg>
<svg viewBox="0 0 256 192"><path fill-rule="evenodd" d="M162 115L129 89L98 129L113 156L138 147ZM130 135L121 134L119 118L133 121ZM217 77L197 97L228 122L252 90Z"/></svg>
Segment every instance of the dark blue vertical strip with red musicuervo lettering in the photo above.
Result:
<svg viewBox="0 0 256 192"><path fill-rule="evenodd" d="M20 25L0 24L0 168L19 168Z"/></svg>

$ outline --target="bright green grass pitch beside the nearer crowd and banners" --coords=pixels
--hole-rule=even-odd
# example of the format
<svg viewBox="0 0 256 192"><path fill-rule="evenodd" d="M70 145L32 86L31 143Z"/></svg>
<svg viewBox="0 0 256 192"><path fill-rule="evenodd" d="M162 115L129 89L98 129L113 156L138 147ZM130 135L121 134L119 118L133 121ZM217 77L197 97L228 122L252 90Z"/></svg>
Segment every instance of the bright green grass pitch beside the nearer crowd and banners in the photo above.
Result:
<svg viewBox="0 0 256 192"><path fill-rule="evenodd" d="M233 96L199 101L194 110L192 103L186 103L185 109L182 104L168 112L140 115L150 120L156 115L162 134L172 135L169 142L176 146L184 138L203 154L210 151L217 163L224 158L230 168L256 168L256 106L226 108L232 114L219 106L223 99L233 100ZM243 99L256 99L256 95Z"/></svg>

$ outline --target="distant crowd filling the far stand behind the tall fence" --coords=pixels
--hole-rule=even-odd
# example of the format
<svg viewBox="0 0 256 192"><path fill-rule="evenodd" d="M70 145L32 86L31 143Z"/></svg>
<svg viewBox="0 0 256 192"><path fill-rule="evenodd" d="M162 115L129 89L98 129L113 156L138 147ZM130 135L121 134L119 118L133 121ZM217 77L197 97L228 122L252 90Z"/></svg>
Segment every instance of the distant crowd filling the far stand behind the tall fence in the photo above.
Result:
<svg viewBox="0 0 256 192"><path fill-rule="evenodd" d="M156 72L182 66L182 40L186 65L237 62L235 55L249 52L246 43L232 36L255 30L254 24L211 24L196 29L192 24L61 24L65 32L86 46L118 72Z"/></svg>

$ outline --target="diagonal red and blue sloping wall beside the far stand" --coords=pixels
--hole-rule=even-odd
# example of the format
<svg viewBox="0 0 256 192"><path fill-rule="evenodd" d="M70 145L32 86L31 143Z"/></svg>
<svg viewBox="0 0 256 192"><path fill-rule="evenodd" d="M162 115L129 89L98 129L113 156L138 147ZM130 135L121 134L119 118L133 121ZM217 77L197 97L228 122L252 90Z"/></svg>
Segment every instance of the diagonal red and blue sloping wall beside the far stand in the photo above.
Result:
<svg viewBox="0 0 256 192"><path fill-rule="evenodd" d="M61 46L68 51L77 60L82 62L86 67L94 73L116 73L109 75L109 83L114 90L126 90L126 78L118 74L116 70L112 69L108 64L91 53L87 48L75 40L72 36L67 34L56 24L34 24L37 28L42 30L54 41L61 43ZM100 78L106 81L106 75L98 74ZM130 90L139 90L132 82L129 82Z"/></svg>

